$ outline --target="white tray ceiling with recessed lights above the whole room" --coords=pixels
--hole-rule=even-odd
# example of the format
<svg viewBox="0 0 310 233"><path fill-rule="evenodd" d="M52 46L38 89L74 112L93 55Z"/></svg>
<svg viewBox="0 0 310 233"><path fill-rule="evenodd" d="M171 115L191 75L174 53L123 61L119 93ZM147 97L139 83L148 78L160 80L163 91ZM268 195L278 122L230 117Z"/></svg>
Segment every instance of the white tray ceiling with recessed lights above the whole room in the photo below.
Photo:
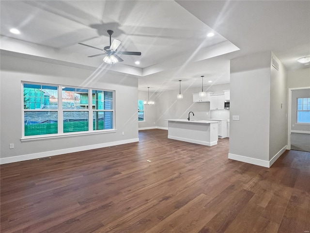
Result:
<svg viewBox="0 0 310 233"><path fill-rule="evenodd" d="M12 1L1 0L1 52L139 77L139 90L163 91L230 82L230 59L272 50L287 69L310 55L310 1ZM11 28L21 31L15 35ZM103 56L107 30L122 41L112 67ZM215 36L206 34L214 32ZM135 61L139 60L140 65Z"/></svg>

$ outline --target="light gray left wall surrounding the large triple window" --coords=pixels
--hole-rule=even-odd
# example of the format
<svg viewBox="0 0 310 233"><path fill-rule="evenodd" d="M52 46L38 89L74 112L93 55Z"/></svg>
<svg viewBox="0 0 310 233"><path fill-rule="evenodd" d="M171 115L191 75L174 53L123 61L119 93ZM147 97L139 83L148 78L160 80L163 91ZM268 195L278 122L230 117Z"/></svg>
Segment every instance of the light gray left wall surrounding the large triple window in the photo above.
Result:
<svg viewBox="0 0 310 233"><path fill-rule="evenodd" d="M0 75L1 163L139 140L137 78L109 74L104 70L67 67L3 54ZM21 142L22 81L115 90L117 131ZM10 143L15 144L15 149L9 149Z"/></svg>

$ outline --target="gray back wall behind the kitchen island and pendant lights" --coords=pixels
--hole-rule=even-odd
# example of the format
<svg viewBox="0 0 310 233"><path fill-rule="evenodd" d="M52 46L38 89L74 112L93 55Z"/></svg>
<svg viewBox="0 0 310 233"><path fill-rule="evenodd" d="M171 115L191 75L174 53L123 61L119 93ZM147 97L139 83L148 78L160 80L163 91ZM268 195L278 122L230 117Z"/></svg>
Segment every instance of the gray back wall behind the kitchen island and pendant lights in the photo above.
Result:
<svg viewBox="0 0 310 233"><path fill-rule="evenodd" d="M204 86L203 90L214 92L214 94L224 94L223 90L229 90L230 84L219 84ZM179 90L165 91L159 93L150 92L150 100L155 101L154 106L145 106L146 122L139 122L139 128L158 127L167 128L168 121L165 119L188 117L188 112L194 112L195 116L190 116L191 119L207 119L213 116L217 118L229 119L229 110L211 111L210 102L193 103L193 93L201 91L201 87L187 88L182 91L183 99L177 99L176 96ZM147 100L147 92L139 91L139 99ZM151 98L152 97L152 98ZM155 124L154 124L155 122Z"/></svg>

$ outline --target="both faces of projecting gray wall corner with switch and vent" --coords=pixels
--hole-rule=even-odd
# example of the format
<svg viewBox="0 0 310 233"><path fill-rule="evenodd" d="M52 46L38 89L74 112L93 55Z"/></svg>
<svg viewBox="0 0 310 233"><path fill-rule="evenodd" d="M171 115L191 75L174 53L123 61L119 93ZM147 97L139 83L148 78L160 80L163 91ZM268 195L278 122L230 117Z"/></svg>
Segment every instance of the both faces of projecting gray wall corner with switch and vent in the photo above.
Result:
<svg viewBox="0 0 310 233"><path fill-rule="evenodd" d="M230 110L230 154L262 166L281 154L287 145L287 76L271 51L231 61Z"/></svg>

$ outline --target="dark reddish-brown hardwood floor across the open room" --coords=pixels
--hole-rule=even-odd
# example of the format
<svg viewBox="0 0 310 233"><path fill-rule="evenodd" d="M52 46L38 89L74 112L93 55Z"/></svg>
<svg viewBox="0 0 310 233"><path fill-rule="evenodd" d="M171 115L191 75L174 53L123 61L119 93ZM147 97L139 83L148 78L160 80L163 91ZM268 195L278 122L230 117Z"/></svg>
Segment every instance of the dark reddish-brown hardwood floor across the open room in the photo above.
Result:
<svg viewBox="0 0 310 233"><path fill-rule="evenodd" d="M140 142L1 165L1 233L307 233L310 153L271 168L140 131ZM147 162L151 160L152 162Z"/></svg>

